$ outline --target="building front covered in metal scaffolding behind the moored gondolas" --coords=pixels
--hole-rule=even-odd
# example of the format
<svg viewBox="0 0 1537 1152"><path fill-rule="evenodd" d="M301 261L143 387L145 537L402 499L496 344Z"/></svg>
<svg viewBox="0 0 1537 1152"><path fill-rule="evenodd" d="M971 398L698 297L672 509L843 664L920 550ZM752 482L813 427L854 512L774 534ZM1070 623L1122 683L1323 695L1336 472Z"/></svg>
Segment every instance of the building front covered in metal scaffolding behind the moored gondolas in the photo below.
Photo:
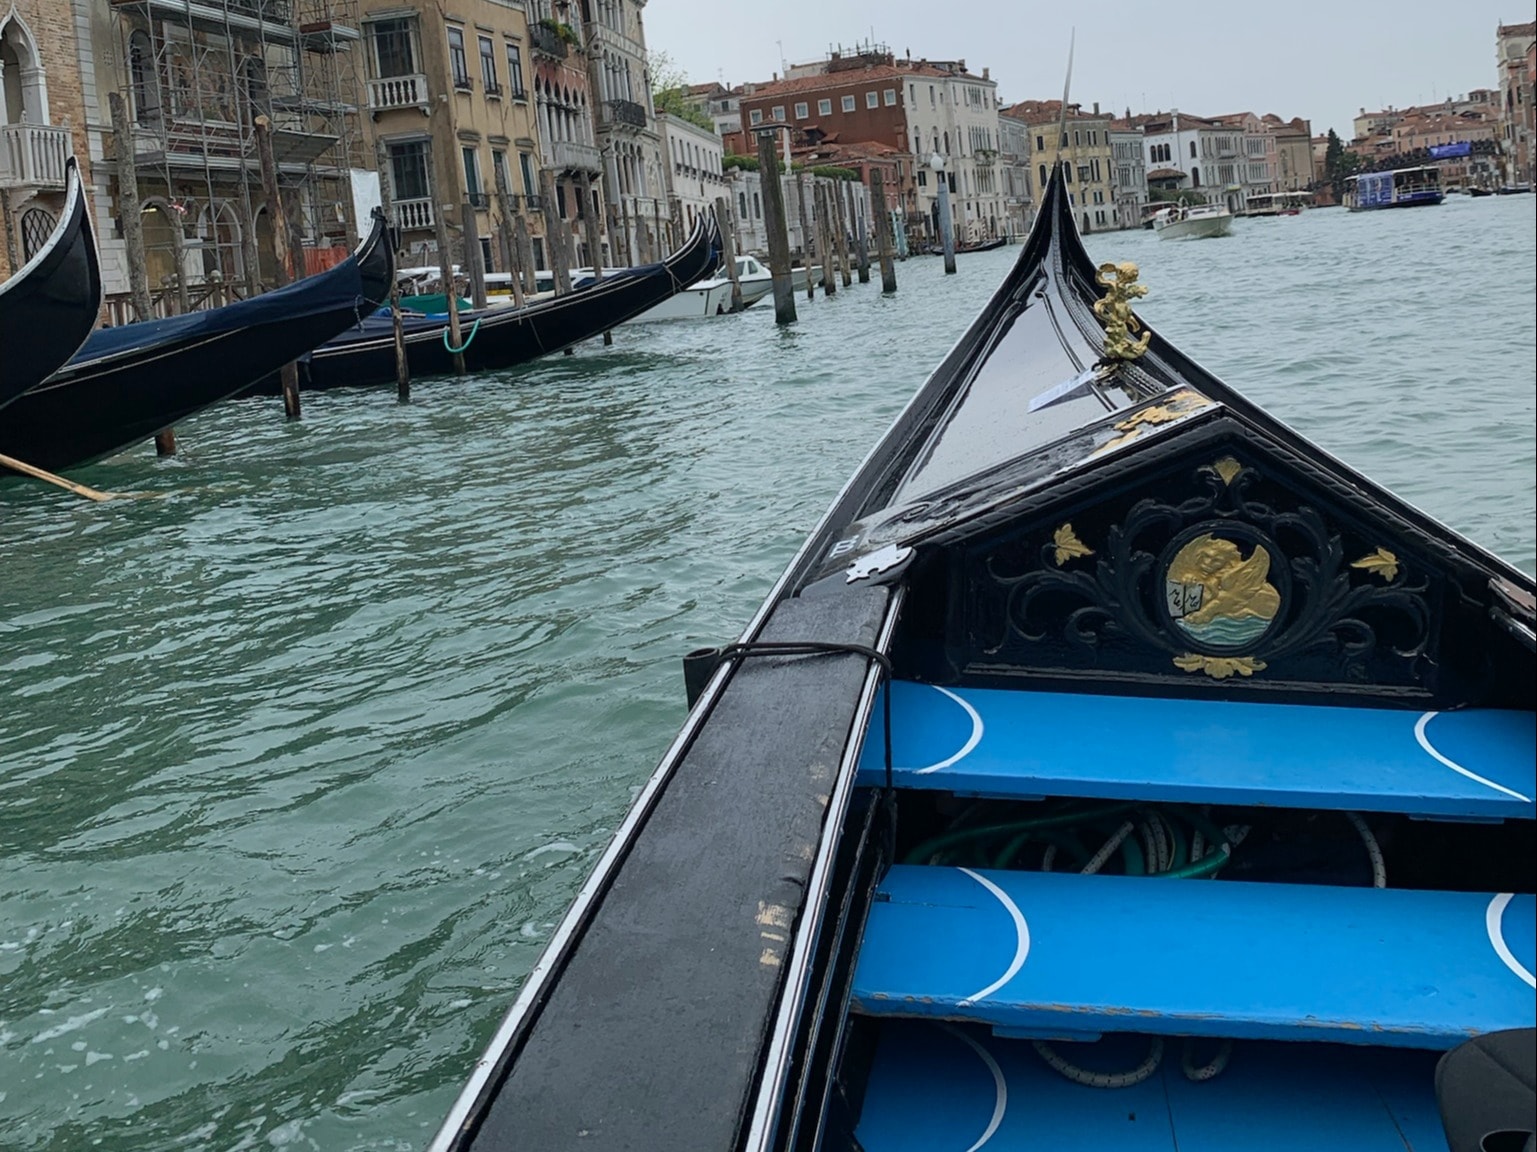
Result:
<svg viewBox="0 0 1537 1152"><path fill-rule="evenodd" d="M357 243L358 0L72 0L109 315L129 319L121 217L138 212L158 315L280 283L258 155L267 124L290 273ZM111 95L126 104L128 141ZM124 203L120 164L138 203ZM366 181L364 181L366 183Z"/></svg>

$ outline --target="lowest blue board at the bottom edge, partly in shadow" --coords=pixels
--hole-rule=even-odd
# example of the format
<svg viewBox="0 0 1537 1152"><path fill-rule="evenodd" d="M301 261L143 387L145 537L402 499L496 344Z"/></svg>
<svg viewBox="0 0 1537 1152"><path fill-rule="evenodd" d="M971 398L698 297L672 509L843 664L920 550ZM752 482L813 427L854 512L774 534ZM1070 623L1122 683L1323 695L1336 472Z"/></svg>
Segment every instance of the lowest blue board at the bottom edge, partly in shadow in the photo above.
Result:
<svg viewBox="0 0 1537 1152"><path fill-rule="evenodd" d="M1090 1063L1074 1046L1057 1051ZM856 1135L865 1152L1446 1152L1436 1058L1254 1041L1214 1080L1191 1083L1171 1044L1150 1080L1097 1089L1062 1078L1022 1041L890 1021Z"/></svg>

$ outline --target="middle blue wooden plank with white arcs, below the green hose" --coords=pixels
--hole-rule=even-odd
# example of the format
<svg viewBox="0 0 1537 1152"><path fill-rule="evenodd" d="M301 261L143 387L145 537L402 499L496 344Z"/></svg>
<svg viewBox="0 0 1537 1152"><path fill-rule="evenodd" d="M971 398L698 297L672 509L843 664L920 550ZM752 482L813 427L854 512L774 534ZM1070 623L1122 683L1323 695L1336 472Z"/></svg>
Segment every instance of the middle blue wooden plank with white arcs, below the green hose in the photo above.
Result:
<svg viewBox="0 0 1537 1152"><path fill-rule="evenodd" d="M1449 1049L1531 1028L1531 895L899 865L855 1008L1019 1035Z"/></svg>

